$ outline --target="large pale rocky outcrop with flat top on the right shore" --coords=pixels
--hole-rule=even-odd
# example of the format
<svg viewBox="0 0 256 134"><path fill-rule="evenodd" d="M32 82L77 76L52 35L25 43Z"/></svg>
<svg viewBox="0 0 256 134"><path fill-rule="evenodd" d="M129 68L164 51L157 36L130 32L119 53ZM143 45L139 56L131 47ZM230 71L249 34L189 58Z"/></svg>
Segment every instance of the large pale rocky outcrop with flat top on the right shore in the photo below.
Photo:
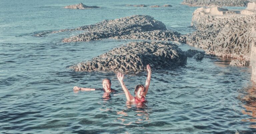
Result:
<svg viewBox="0 0 256 134"><path fill-rule="evenodd" d="M210 55L250 61L249 34L256 24L256 15L239 12L220 7L198 8L191 22L197 31L186 35L187 44L206 49Z"/></svg>

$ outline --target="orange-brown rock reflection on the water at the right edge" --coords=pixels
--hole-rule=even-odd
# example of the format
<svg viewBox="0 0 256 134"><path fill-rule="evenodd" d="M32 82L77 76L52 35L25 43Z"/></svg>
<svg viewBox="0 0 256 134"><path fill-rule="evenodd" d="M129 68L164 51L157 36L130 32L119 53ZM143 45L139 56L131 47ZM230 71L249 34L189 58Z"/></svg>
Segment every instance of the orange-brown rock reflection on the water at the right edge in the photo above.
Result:
<svg viewBox="0 0 256 134"><path fill-rule="evenodd" d="M250 115L251 118L242 119L244 122L255 122L256 123L256 85L254 84L247 90L247 95L242 99L245 101L244 108L246 110L242 110L243 114ZM256 125L250 125L251 128L256 128Z"/></svg>

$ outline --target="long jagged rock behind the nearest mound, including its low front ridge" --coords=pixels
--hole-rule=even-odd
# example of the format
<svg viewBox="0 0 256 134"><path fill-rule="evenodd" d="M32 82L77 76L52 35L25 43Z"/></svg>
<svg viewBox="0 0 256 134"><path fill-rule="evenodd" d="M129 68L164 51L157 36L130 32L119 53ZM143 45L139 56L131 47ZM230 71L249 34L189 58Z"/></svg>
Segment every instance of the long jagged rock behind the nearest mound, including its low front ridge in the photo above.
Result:
<svg viewBox="0 0 256 134"><path fill-rule="evenodd" d="M112 38L186 42L185 37L181 36L180 33L166 30L165 25L161 21L157 21L147 15L134 15L115 20L105 20L94 25L82 26L75 29L63 29L52 32L45 31L34 34L34 36L42 37L49 33L75 30L85 31L85 33L63 39L62 41L79 42Z"/></svg>

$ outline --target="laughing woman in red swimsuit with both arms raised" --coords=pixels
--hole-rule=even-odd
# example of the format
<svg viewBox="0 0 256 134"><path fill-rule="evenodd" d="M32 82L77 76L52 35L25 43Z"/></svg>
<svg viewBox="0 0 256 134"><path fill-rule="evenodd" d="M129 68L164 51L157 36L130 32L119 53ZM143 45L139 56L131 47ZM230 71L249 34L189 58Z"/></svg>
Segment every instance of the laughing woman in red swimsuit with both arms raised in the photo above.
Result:
<svg viewBox="0 0 256 134"><path fill-rule="evenodd" d="M126 98L128 101L134 101L136 103L146 101L146 95L148 93L148 87L149 87L150 79L151 79L151 68L149 65L147 65L147 70L148 70L148 77L146 80L146 84L145 84L145 86L144 85L136 85L135 91L134 91L134 94L135 94L134 97L131 95L131 93L128 91L127 87L124 84L124 81L123 81L124 74L121 74L120 72L117 73L117 78L122 85L122 88L125 92L125 95L126 95Z"/></svg>

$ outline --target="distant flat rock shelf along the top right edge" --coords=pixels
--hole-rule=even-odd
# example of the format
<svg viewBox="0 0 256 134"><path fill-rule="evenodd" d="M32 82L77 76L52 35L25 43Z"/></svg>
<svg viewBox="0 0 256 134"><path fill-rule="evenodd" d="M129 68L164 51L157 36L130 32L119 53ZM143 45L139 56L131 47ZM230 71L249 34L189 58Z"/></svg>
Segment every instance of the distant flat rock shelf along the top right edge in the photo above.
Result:
<svg viewBox="0 0 256 134"><path fill-rule="evenodd" d="M183 0L182 4L189 6L247 6L256 0Z"/></svg>

